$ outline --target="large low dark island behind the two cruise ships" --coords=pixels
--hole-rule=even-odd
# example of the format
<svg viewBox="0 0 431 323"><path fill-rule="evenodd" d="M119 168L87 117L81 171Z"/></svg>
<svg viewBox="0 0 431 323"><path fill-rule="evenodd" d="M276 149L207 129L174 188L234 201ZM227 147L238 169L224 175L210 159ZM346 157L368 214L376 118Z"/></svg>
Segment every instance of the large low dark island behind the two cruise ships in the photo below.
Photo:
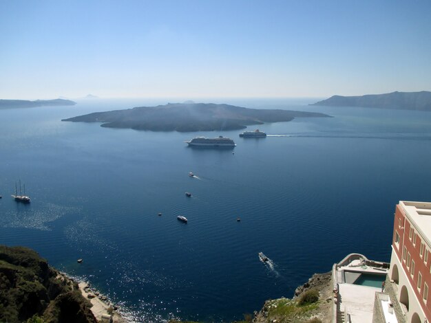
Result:
<svg viewBox="0 0 431 323"><path fill-rule="evenodd" d="M247 109L229 104L168 103L158 107L96 112L63 119L73 122L101 122L108 128L149 131L221 131L244 129L264 122L286 122L293 118L329 117L324 113L280 109Z"/></svg>

